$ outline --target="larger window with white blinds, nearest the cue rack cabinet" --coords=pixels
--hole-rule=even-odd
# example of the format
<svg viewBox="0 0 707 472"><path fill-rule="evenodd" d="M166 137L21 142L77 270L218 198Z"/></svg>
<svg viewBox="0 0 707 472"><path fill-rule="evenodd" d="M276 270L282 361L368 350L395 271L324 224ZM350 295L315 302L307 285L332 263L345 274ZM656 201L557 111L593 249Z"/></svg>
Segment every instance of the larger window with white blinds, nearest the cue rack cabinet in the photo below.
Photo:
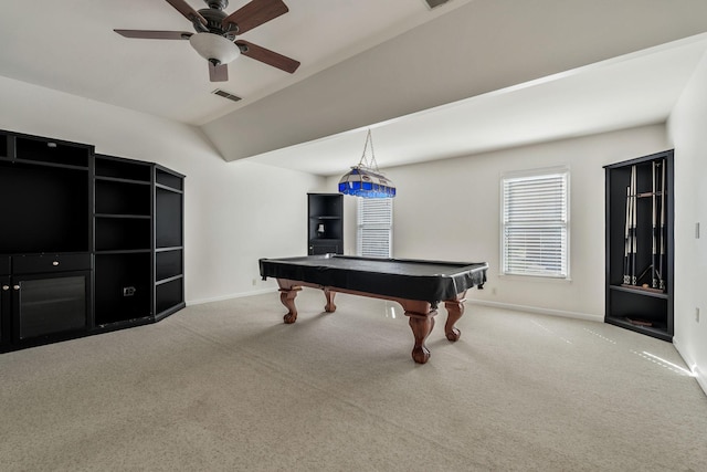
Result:
<svg viewBox="0 0 707 472"><path fill-rule="evenodd" d="M504 274L569 276L567 169L502 179Z"/></svg>

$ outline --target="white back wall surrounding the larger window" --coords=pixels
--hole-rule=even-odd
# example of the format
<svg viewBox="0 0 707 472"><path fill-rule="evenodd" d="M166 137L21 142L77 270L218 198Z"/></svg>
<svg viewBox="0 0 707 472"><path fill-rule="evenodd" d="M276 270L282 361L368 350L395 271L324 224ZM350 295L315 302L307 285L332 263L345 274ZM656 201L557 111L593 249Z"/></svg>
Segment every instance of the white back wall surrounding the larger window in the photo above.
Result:
<svg viewBox="0 0 707 472"><path fill-rule="evenodd" d="M393 255L485 261L489 264L485 290L473 291L467 294L468 298L603 321L602 166L668 148L665 126L653 125L384 169L398 188L393 206ZM570 169L571 281L499 276L500 176L507 171L553 166ZM333 180L328 182L331 188ZM355 203L347 204L356 208ZM346 247L355 250L355 211L348 211L346 218Z"/></svg>

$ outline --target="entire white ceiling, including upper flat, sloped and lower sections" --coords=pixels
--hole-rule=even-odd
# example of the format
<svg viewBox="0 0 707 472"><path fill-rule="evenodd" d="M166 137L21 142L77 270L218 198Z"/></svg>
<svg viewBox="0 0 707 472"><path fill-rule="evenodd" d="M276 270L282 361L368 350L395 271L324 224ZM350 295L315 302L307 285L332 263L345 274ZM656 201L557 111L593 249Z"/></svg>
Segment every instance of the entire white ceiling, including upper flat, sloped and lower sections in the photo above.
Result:
<svg viewBox="0 0 707 472"><path fill-rule="evenodd" d="M293 75L240 57L214 84L187 41L113 32L191 31L162 0L3 2L0 75L202 126L225 160L335 175L368 127L390 167L662 123L707 50L704 0L285 2L242 39L300 61Z"/></svg>

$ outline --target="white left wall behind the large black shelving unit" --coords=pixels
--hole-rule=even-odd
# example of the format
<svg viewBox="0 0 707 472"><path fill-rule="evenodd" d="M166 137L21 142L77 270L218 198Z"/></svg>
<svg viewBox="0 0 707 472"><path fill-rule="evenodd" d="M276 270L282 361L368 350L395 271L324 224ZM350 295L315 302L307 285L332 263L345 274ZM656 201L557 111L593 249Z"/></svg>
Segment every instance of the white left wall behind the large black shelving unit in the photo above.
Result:
<svg viewBox="0 0 707 472"><path fill-rule="evenodd" d="M321 178L247 160L226 164L196 127L6 77L0 104L1 129L92 144L96 153L187 176L188 303L273 287L260 281L258 258L306 253L306 193L318 191Z"/></svg>

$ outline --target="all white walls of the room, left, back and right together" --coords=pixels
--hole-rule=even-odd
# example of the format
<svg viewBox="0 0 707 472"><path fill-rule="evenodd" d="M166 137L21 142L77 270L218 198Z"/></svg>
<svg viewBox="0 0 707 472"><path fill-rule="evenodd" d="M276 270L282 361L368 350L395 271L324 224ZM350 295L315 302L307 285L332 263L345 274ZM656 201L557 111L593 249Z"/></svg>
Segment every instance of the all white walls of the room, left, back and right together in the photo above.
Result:
<svg viewBox="0 0 707 472"><path fill-rule="evenodd" d="M707 60L671 118L676 148L676 345L707 365ZM0 128L94 144L97 153L162 164L186 180L189 303L271 290L257 259L306 252L306 192L336 191L323 179L251 161L226 164L198 128L0 77ZM672 147L663 125L386 169L395 182L398 258L487 261L486 290L471 297L548 313L603 318L602 166ZM505 171L566 165L571 171L571 282L500 277L499 178ZM346 198L346 252L354 253L356 204ZM695 240L694 224L703 222ZM602 254L602 255L598 255ZM704 376L704 375L703 375ZM703 386L705 380L703 377Z"/></svg>

